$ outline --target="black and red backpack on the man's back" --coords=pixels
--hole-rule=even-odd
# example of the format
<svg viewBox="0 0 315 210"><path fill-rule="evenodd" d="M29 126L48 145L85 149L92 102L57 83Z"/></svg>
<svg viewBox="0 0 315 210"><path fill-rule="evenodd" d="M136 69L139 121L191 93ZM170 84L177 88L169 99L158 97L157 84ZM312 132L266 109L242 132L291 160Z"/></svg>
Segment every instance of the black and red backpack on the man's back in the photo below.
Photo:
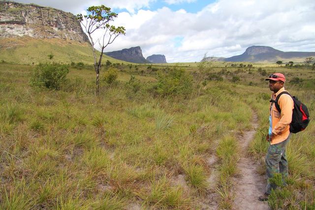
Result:
<svg viewBox="0 0 315 210"><path fill-rule="evenodd" d="M291 96L287 91L283 91L276 97L275 100L270 100L270 102L275 103L275 106L279 112L281 112L281 108L278 104L278 100L282 94L287 94ZM296 134L300 131L305 130L305 128L309 125L310 114L307 106L300 102L297 97L291 96L291 98L294 103L294 109L292 113L292 121L290 123L290 132Z"/></svg>

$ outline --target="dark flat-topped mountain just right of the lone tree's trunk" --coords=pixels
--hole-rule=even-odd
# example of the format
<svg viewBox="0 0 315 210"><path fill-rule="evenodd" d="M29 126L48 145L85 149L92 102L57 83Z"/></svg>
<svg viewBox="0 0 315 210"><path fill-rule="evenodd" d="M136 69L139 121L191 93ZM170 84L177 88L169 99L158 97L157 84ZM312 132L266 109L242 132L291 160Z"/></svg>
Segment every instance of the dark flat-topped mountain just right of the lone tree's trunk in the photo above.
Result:
<svg viewBox="0 0 315 210"><path fill-rule="evenodd" d="M118 51L105 52L104 54L109 57L122 60L122 61L131 62L131 63L137 63L137 64L150 63L143 57L142 50L139 46L131 47L129 49L122 49Z"/></svg>

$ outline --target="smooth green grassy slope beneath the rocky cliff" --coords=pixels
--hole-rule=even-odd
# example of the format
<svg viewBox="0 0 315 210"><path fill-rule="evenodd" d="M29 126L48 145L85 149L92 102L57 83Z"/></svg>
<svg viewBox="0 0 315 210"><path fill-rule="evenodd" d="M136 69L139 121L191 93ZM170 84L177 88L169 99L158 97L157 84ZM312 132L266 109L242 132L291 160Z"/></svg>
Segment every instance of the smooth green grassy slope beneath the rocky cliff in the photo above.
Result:
<svg viewBox="0 0 315 210"><path fill-rule="evenodd" d="M93 64L91 46L73 40L36 39L29 36L0 39L0 62L13 64L38 64L51 61L48 55L53 55L53 61L70 64L71 62ZM125 63L104 55L103 61Z"/></svg>

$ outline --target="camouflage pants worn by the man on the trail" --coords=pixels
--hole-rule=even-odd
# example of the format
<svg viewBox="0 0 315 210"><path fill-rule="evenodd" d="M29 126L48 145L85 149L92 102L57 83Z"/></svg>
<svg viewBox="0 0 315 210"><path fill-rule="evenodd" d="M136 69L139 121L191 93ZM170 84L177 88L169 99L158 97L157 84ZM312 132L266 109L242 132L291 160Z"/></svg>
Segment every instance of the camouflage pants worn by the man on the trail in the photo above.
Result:
<svg viewBox="0 0 315 210"><path fill-rule="evenodd" d="M269 145L266 154L266 175L267 175L267 187L266 193L270 194L272 189L276 189L276 186L270 183L269 178L273 177L276 173L281 173L282 181L285 185L285 178L288 175L287 160L285 154L285 146L290 139L288 138L280 143Z"/></svg>

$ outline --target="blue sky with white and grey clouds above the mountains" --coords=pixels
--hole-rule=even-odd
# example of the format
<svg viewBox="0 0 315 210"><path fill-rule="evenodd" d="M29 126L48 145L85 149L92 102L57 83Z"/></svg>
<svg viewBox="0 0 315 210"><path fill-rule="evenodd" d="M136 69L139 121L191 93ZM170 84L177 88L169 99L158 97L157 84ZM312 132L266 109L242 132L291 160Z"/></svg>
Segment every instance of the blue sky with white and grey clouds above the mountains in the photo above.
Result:
<svg viewBox="0 0 315 210"><path fill-rule="evenodd" d="M73 14L104 4L118 14L111 24L126 28L105 52L140 46L145 58L162 54L168 63L227 58L252 45L315 52L315 0L15 1Z"/></svg>

